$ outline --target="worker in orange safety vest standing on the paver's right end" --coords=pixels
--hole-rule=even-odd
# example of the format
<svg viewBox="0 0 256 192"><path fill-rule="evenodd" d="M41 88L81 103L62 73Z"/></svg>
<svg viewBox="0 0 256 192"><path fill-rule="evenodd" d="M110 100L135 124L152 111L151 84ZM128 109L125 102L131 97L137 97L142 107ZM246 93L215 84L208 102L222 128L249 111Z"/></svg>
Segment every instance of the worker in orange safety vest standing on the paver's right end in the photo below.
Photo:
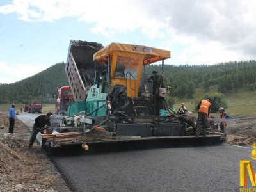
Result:
<svg viewBox="0 0 256 192"><path fill-rule="evenodd" d="M206 136L206 129L208 124L208 116L210 114L211 102L209 99L205 98L200 101L197 106L198 118L196 122L196 136L199 135L199 126L203 128L203 136Z"/></svg>

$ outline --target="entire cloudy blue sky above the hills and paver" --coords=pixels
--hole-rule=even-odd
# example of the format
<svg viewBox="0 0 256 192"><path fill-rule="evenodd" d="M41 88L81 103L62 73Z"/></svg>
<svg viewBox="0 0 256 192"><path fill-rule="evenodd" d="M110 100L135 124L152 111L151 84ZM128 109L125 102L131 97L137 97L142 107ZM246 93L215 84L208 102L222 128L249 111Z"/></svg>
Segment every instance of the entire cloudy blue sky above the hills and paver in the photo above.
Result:
<svg viewBox="0 0 256 192"><path fill-rule="evenodd" d="M170 50L170 65L255 60L255 10L255 0L1 0L0 83L65 62L70 40Z"/></svg>

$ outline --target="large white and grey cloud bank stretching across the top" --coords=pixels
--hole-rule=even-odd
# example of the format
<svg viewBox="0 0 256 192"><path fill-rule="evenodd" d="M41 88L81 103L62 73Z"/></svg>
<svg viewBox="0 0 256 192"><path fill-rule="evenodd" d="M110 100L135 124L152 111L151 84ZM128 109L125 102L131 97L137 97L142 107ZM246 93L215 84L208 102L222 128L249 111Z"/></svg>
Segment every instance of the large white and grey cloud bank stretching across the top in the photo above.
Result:
<svg viewBox="0 0 256 192"><path fill-rule="evenodd" d="M139 29L166 46L184 45L175 63L208 64L255 58L255 9L254 0L14 0L0 13L29 22L77 17L108 38Z"/></svg>

